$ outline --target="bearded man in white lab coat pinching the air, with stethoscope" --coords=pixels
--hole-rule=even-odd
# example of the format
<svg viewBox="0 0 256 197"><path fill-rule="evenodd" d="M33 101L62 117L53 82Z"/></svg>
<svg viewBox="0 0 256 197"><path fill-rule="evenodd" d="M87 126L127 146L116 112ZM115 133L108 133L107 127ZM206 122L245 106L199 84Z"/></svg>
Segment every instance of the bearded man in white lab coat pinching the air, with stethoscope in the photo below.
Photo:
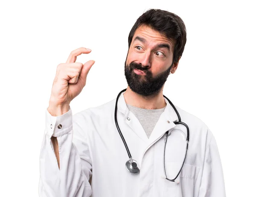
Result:
<svg viewBox="0 0 256 197"><path fill-rule="evenodd" d="M146 11L128 37L127 89L75 115L70 102L94 64L76 57L91 50L78 48L58 65L40 153L41 197L225 197L212 132L163 96L185 44L180 17ZM175 124L179 116L189 131Z"/></svg>

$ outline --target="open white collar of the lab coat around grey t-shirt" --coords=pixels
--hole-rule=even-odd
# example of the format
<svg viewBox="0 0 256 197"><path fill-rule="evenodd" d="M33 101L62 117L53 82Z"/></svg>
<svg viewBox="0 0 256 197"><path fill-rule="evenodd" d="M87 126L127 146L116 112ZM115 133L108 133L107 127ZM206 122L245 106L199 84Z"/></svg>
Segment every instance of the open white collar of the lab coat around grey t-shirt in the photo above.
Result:
<svg viewBox="0 0 256 197"><path fill-rule="evenodd" d="M118 110L125 115L125 119L128 118L129 115L129 109L126 105L125 98L124 98L124 92L121 93L118 103L117 103L117 108ZM136 134L146 143L154 143L158 138L160 138L166 131L169 129L172 129L175 127L175 121L178 121L177 115L175 113L175 110L172 108L171 104L169 101L164 98L166 101L166 108L163 111L163 113L160 115L159 120L157 121L157 124L155 125L150 137L148 138L147 135L145 134L145 131L141 132L140 129L136 128L135 124L132 124L131 121L128 121L130 124L130 127L136 132Z"/></svg>

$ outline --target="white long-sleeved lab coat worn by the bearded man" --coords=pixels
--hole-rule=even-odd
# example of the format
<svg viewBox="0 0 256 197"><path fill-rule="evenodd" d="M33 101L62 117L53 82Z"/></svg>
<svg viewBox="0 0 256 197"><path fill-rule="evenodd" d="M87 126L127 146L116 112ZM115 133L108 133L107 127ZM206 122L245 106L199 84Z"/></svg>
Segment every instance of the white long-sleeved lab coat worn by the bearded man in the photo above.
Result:
<svg viewBox="0 0 256 197"><path fill-rule="evenodd" d="M225 197L221 159L212 132L199 118L177 106L181 121L189 127L189 147L178 177L180 183L163 178L165 133L178 127L173 123L177 115L166 98L165 101L166 108L148 138L139 120L128 110L123 93L119 97L118 124L132 158L139 163L139 174L131 174L125 168L129 158L114 121L116 98L73 116L71 109L57 117L51 116L46 110L46 129L40 154L39 195ZM61 128L58 128L59 124ZM50 140L52 135L57 137L59 143L60 170ZM166 169L172 169L172 165L175 165L175 161L166 152Z"/></svg>

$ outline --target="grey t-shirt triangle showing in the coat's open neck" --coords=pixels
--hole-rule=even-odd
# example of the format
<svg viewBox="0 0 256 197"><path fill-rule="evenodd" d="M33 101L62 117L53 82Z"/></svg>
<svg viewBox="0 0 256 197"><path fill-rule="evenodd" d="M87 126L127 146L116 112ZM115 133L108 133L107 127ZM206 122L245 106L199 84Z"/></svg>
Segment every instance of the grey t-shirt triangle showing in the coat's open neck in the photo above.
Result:
<svg viewBox="0 0 256 197"><path fill-rule="evenodd" d="M132 105L126 104L128 109L134 113L136 118L140 121L146 135L150 137L155 125L157 124L160 115L163 113L166 107L157 110L148 110L140 107L134 107Z"/></svg>

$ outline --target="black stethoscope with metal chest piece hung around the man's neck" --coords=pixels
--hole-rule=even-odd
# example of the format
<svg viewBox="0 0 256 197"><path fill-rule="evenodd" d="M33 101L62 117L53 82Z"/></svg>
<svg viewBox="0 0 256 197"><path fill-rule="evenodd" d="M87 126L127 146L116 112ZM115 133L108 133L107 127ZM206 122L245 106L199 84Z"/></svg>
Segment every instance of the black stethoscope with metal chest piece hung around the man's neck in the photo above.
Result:
<svg viewBox="0 0 256 197"><path fill-rule="evenodd" d="M130 159L125 163L126 169L127 169L129 172L131 172L132 174L137 174L137 173L140 172L140 166L139 166L139 164L138 164L138 162L137 162L136 160L133 160L133 159L131 158L131 153L130 153L130 151L129 151L129 149L128 149L128 146L127 146L127 144L126 144L126 142L125 142L125 138L124 138L124 136L122 135L122 132L121 132L121 130L120 130L120 128L119 128L119 125L118 125L118 123L117 123L117 117L116 117L118 98L119 98L119 96L121 95L121 93L123 93L125 90L126 90L126 89L122 90L122 91L118 94L118 96L117 96L117 98L116 98L115 123L116 123L116 128L117 128L117 130L118 130L118 132L119 132L119 134L120 134L120 137L122 138L122 141L123 141L123 143L124 143L124 145L125 145L125 149L126 149L126 151L127 151L127 153L128 153L128 157L130 158ZM163 95L163 96L164 96L164 95ZM180 115L179 115L179 113L177 112L177 110L176 110L176 108L174 107L174 105L172 104L172 102L171 102L166 96L164 96L164 98L166 98L166 99L169 101L169 103L172 105L173 109L175 110L175 112L176 112L176 114L177 114L178 121L175 122L175 124L183 124L183 125L186 127L186 130L187 130L185 157L184 157L184 159L183 159L182 166L181 166L181 168L180 168L180 170L179 170L177 176L176 176L174 179L169 179L169 178L167 178L167 176L166 176L166 169L165 169L165 148L166 148L167 138L168 138L168 136L170 135L170 134L168 134L168 133L169 133L169 130L166 131L166 135L165 135L165 138L164 138L164 149L163 149L163 170L164 170L164 175L165 175L165 178L166 178L167 180L172 181L172 182L177 182L177 181L176 181L176 178L177 178L178 175L180 174L180 171L181 171L181 169L182 169L182 167L183 167L183 165L184 165L184 162L185 162L185 160L186 160L186 154L187 154L187 149L188 149L188 144L189 144L189 127L188 127L185 123L181 122L181 120L180 120ZM178 182L177 182L177 183L178 183Z"/></svg>

